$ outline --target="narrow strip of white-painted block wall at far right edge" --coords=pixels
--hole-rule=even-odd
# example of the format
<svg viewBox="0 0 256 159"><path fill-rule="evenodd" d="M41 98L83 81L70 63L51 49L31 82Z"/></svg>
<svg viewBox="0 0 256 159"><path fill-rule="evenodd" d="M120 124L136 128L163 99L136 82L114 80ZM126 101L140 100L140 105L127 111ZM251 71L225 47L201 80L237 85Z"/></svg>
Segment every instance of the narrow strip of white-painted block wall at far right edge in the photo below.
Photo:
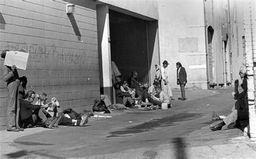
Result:
<svg viewBox="0 0 256 159"><path fill-rule="evenodd" d="M244 32L245 32L245 51L248 74L248 103L249 103L249 124L251 140L256 141L256 115L255 115L255 71L256 71L256 18L255 1L242 1Z"/></svg>

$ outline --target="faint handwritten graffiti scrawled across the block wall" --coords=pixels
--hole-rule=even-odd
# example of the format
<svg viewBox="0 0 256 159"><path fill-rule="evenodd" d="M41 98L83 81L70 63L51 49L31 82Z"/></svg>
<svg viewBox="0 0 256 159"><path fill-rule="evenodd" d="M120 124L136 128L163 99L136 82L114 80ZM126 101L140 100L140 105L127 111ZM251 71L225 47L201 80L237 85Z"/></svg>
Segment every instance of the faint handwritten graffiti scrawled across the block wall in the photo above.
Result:
<svg viewBox="0 0 256 159"><path fill-rule="evenodd" d="M29 44L7 44L4 46L4 49L9 50L20 50L26 49L30 50L29 60L33 61L35 59L47 59L51 55L57 55L55 58L55 62L65 62L65 63L76 63L77 67L80 67L86 61L86 53L73 53L73 52L66 52L65 48L59 48L55 45L52 46L31 46Z"/></svg>

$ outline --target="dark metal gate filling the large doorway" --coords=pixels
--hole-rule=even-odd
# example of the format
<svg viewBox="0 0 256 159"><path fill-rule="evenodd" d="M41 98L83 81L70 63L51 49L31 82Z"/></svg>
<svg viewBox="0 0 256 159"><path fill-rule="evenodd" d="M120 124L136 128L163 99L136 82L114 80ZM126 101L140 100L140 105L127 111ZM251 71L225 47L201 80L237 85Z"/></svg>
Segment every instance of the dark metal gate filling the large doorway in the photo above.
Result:
<svg viewBox="0 0 256 159"><path fill-rule="evenodd" d="M139 82L149 82L147 21L113 10L109 10L109 21L111 61L122 79L127 81L132 71L137 71Z"/></svg>

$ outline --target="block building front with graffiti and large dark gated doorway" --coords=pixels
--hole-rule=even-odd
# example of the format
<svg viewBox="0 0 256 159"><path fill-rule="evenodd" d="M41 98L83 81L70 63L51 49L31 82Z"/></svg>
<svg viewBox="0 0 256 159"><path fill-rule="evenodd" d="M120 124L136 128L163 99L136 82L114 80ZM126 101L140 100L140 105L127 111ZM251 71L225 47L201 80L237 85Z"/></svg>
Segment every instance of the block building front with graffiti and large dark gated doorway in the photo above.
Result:
<svg viewBox="0 0 256 159"><path fill-rule="evenodd" d="M67 13L67 4L73 4L75 12ZM28 77L26 91L56 97L61 110L91 109L100 94L111 95L111 61L122 78L137 70L144 82L151 81L152 64L159 63L155 1L6 0L0 1L0 26L1 52L30 50L27 69L18 70L20 77ZM143 32L135 32L136 28ZM123 40L126 44L120 43ZM128 61L126 66L120 65L122 60ZM3 63L1 59L1 68ZM4 129L8 92L0 71L0 127Z"/></svg>

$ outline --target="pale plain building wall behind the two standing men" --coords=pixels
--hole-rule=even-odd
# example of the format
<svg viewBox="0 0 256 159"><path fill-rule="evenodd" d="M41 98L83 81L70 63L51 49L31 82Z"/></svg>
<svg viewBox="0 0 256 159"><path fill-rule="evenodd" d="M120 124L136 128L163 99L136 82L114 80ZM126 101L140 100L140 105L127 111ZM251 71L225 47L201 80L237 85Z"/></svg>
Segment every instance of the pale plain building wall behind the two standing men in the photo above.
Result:
<svg viewBox="0 0 256 159"><path fill-rule="evenodd" d="M205 23L203 1L158 1L160 63L169 62L167 71L173 89L177 85L176 63L187 72L188 89L207 89Z"/></svg>

